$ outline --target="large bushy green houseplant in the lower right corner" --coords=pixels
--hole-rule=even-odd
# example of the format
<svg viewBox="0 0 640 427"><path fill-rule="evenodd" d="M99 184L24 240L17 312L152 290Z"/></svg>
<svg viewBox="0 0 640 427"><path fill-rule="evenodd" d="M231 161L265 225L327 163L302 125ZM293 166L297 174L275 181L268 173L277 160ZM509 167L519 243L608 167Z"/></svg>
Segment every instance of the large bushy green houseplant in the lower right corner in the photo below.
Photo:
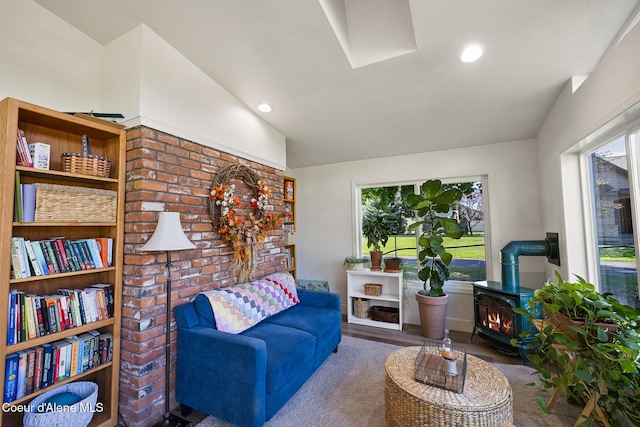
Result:
<svg viewBox="0 0 640 427"><path fill-rule="evenodd" d="M576 277L569 282L556 272L526 309L514 309L537 326L512 340L530 341L527 357L540 380L536 401L547 412L541 393L552 389L583 405L594 397L610 425L640 425L640 309ZM592 425L593 417L580 425Z"/></svg>

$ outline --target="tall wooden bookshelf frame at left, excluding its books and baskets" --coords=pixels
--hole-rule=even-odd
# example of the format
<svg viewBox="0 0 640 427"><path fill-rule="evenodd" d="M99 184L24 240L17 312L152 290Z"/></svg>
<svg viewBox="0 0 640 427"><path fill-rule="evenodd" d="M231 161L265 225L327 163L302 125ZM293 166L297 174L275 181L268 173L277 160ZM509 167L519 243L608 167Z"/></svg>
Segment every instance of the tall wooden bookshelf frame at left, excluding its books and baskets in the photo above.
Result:
<svg viewBox="0 0 640 427"><path fill-rule="evenodd" d="M49 170L16 166L16 138L18 128L25 132L27 141L50 145ZM98 411L90 426L107 427L117 424L118 382L120 371L120 323L122 298L122 260L124 239L124 184L126 168L125 132L108 122L88 120L49 110L26 102L7 98L0 102L0 391L4 397L5 357L7 354L38 345L53 343L91 330L108 333L113 337L112 361L78 373L66 380L17 398L10 404L27 405L40 394L74 381L93 381L98 384ZM92 154L111 159L108 177L97 177L62 171L62 153L81 153L82 136L87 135ZM23 184L56 184L85 187L116 192L116 220L114 222L17 222L14 219L14 192L16 171ZM37 196L36 196L37 197ZM64 208L61 208L64 209ZM100 209L100 206L87 206ZM64 212L64 211L63 211ZM13 278L11 275L11 240L23 237L27 240L46 240L65 236L68 239L113 239L113 263L105 268L73 271L46 276ZM53 295L60 289L83 289L92 284L108 283L114 293L113 316L60 332L38 336L8 345L8 313L11 290L35 295ZM0 426L22 425L23 414L3 411Z"/></svg>

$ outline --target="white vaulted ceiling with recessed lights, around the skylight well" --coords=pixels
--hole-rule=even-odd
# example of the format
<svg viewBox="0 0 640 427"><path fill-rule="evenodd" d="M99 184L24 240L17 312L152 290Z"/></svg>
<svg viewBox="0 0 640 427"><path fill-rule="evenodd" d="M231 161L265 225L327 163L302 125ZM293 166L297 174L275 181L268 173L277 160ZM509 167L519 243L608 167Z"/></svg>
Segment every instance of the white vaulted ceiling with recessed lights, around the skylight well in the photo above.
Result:
<svg viewBox="0 0 640 427"><path fill-rule="evenodd" d="M638 7L409 0L417 49L352 68L318 0L36 1L102 44L146 24L281 132L291 168L534 138ZM463 64L468 42L486 52Z"/></svg>

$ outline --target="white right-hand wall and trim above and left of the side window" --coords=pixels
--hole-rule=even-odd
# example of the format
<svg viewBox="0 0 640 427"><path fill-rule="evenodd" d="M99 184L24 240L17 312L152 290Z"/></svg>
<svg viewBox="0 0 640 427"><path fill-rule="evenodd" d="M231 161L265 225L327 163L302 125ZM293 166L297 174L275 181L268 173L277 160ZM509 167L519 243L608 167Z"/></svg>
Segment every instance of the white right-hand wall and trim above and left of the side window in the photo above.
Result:
<svg viewBox="0 0 640 427"><path fill-rule="evenodd" d="M561 273L596 283L588 268L590 245L581 197L578 150L594 132L620 128L636 119L640 102L640 26L613 48L575 92L562 92L538 134L542 220L560 232ZM548 269L548 273L550 269Z"/></svg>

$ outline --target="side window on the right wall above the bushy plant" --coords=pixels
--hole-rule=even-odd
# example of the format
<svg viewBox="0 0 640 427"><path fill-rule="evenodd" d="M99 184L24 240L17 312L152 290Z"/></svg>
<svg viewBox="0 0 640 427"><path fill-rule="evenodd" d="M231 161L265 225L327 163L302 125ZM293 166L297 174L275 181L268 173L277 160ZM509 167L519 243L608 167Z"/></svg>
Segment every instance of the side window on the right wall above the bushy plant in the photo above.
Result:
<svg viewBox="0 0 640 427"><path fill-rule="evenodd" d="M587 154L599 291L640 307L638 298L637 161L640 131L625 133ZM635 169L634 169L635 168ZM637 206L637 205L636 205ZM635 212L635 213L634 213Z"/></svg>

